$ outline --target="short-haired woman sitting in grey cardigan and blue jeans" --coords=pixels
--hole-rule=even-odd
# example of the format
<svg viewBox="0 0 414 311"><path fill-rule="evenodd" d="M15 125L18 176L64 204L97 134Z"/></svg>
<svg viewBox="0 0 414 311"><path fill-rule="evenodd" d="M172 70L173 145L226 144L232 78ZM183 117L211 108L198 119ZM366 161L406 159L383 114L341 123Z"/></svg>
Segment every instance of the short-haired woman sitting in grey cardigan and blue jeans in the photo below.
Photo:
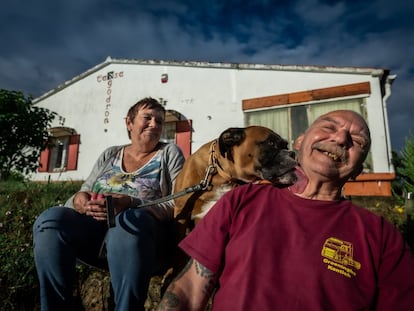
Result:
<svg viewBox="0 0 414 311"><path fill-rule="evenodd" d="M164 118L165 109L155 99L137 102L126 117L131 143L106 149L66 207L52 207L36 220L34 257L42 310L71 310L76 261L102 265L98 254L105 236L104 264L116 310L144 310L151 275L165 261L173 206L134 207L170 194L184 163L175 144L159 141ZM108 230L109 194L116 217Z"/></svg>

